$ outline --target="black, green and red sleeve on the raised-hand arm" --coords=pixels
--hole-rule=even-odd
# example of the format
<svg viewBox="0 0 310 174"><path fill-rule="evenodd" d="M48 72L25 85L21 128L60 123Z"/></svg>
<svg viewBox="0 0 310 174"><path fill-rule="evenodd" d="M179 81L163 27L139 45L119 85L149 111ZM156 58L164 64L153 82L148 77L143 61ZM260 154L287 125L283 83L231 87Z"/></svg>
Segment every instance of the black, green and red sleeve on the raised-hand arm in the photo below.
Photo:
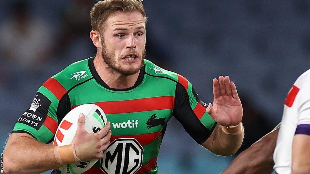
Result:
<svg viewBox="0 0 310 174"><path fill-rule="evenodd" d="M199 100L193 86L185 80L184 78L181 83L176 85L173 115L182 124L186 132L197 143L201 144L210 137L216 122L206 112L207 104Z"/></svg>

